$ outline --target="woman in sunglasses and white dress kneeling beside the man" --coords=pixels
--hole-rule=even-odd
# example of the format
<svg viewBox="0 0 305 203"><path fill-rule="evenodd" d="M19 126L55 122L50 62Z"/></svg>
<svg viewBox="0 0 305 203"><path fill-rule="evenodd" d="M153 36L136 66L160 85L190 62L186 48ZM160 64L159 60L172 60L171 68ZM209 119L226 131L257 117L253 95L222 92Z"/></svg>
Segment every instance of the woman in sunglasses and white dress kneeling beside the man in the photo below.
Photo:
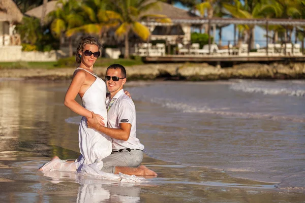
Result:
<svg viewBox="0 0 305 203"><path fill-rule="evenodd" d="M78 138L80 157L73 163L60 160L57 156L42 166L40 171L65 170L76 171L81 164L94 163L111 154L111 138L94 129L87 128L86 117L92 118L92 111L99 122L107 124L105 105L106 84L93 72L93 65L100 56L102 45L94 37L82 39L76 49L76 62L80 63L65 96L65 105L83 116L79 124ZM82 98L83 106L75 100L77 94ZM104 120L103 120L104 119Z"/></svg>

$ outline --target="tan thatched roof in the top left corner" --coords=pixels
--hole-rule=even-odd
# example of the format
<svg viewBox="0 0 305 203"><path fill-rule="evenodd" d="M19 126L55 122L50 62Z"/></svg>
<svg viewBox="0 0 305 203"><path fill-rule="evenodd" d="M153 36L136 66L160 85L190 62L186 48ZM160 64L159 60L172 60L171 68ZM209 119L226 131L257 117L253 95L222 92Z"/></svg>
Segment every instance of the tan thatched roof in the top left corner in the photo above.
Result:
<svg viewBox="0 0 305 203"><path fill-rule="evenodd" d="M0 21L22 21L23 14L12 0L0 0Z"/></svg>

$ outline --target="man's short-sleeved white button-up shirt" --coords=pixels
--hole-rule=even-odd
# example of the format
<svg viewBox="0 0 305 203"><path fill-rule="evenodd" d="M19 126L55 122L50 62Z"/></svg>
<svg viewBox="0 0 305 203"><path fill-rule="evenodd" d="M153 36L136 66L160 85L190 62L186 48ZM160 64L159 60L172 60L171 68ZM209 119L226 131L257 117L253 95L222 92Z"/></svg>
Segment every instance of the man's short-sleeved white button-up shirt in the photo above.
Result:
<svg viewBox="0 0 305 203"><path fill-rule="evenodd" d="M112 104L110 104L112 103ZM110 104L110 105L109 105ZM112 150L117 151L119 149L144 149L137 139L136 129L136 108L131 98L129 98L125 93L124 89L119 90L111 99L110 95L106 98L106 107L108 110L107 121L108 127L120 128L120 123L130 123L131 131L130 136L127 141L117 140L112 138Z"/></svg>

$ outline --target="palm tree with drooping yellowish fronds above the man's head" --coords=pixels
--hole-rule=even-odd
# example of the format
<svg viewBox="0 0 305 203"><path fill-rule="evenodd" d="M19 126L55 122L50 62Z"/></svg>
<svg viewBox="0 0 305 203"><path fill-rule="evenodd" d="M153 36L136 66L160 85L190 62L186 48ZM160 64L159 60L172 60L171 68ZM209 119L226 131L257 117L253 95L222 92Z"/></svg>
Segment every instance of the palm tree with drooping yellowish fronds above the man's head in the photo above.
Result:
<svg viewBox="0 0 305 203"><path fill-rule="evenodd" d="M115 35L125 39L124 58L129 58L129 35L134 32L142 40L147 40L150 31L148 27L139 21L144 19L155 19L159 22L171 22L164 15L148 14L147 11L159 8L159 1L149 0L117 0L113 2L112 8L115 11L113 18L120 22Z"/></svg>

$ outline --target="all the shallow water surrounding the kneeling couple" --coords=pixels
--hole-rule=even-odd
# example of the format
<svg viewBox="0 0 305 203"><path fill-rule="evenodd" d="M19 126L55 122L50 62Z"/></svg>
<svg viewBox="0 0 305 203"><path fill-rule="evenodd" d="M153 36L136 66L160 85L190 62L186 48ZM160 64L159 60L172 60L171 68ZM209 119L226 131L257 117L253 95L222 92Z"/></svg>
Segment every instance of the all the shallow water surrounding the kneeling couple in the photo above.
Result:
<svg viewBox="0 0 305 203"><path fill-rule="evenodd" d="M36 171L79 155L68 85L0 82L1 202L305 199L304 81L128 83L144 164L159 174L136 185Z"/></svg>

